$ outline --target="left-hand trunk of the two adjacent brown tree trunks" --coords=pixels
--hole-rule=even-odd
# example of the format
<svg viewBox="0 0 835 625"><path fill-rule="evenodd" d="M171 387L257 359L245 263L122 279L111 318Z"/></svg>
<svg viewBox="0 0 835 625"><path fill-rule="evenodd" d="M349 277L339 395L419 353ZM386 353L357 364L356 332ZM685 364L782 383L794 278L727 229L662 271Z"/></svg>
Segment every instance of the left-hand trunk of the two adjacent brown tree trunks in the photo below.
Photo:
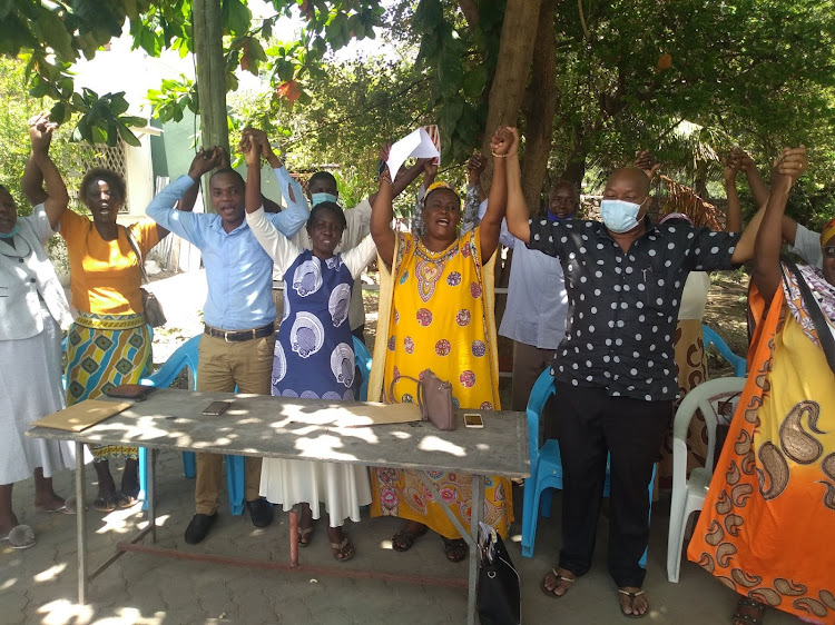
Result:
<svg viewBox="0 0 835 625"><path fill-rule="evenodd" d="M541 4L542 0L508 0L481 142L484 155L490 155L490 140L499 126L517 126L533 58L536 38L531 37L531 24L538 23ZM482 177L485 189L490 187L492 172L492 159L488 158Z"/></svg>

